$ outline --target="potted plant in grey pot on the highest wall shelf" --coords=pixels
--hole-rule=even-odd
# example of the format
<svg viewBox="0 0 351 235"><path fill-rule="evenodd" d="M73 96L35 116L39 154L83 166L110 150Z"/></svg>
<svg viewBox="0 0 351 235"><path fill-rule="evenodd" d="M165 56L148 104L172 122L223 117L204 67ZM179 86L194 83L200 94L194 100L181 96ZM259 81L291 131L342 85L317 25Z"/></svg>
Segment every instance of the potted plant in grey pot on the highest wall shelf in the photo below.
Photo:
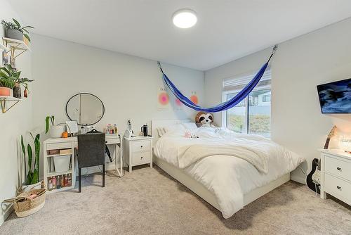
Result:
<svg viewBox="0 0 351 235"><path fill-rule="evenodd" d="M17 20L12 19L12 22L6 22L5 20L1 21L1 24L4 25L5 27L5 35L6 37L10 38L10 39L17 39L17 40L21 40L23 41L23 37L25 37L25 39L27 39L30 42L30 37L29 37L29 32L28 32L28 28L30 29L34 29L34 27L32 26L25 26L22 27L20 25L20 23L18 23Z"/></svg>

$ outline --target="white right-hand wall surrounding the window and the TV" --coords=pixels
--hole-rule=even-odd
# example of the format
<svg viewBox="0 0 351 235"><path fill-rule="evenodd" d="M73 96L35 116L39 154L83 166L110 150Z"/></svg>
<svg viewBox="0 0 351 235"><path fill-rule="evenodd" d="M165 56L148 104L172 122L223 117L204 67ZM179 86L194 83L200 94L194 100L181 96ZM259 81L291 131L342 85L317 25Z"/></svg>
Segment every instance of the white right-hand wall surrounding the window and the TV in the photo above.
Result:
<svg viewBox="0 0 351 235"><path fill-rule="evenodd" d="M351 77L350 27L351 18L279 44L272 62L272 139L303 155L308 171L333 125L339 133L351 132L351 115L321 114L316 89L317 84ZM206 71L206 105L222 100L224 78L258 70L270 52L265 49ZM215 119L220 123L222 113ZM291 178L305 182L300 170Z"/></svg>

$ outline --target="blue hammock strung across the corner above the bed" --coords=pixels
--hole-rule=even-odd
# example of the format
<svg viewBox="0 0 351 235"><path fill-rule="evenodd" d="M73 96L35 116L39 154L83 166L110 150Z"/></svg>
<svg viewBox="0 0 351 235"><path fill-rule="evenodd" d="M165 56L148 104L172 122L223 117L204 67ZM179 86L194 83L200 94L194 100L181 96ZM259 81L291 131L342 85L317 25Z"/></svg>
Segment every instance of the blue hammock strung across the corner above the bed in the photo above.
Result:
<svg viewBox="0 0 351 235"><path fill-rule="evenodd" d="M234 96L229 101L220 103L217 106L214 106L212 108L201 108L200 106L198 106L194 102L190 101L190 99L188 99L186 96L184 96L178 90L178 88L173 84L173 82L171 82L171 80L168 79L167 75L164 74L164 71L161 68L161 64L159 62L157 62L157 63L159 64L159 69L162 72L162 77L164 78L164 82L167 84L167 87L179 99L180 102L182 102L185 106L187 106L189 108L192 108L194 110L197 110L197 111L205 111L205 112L208 112L208 113L216 113L216 112L220 112L220 111L223 111L223 110L227 110L227 109L233 108L238 103L240 103L240 101L245 99L246 96L248 96L250 94L250 92L256 87L258 82L260 82L261 77L263 76L263 74L265 73L265 70L267 69L268 63L270 63L270 59L272 58L272 56L274 55L274 52L276 50L277 50L277 46L274 46L273 52L270 55L270 58L268 59L267 63L265 63L262 66L262 68L260 68L260 70L258 71L256 76L253 77L253 79L249 82L249 84L246 85L246 87L244 87L244 89L242 89L236 96Z"/></svg>

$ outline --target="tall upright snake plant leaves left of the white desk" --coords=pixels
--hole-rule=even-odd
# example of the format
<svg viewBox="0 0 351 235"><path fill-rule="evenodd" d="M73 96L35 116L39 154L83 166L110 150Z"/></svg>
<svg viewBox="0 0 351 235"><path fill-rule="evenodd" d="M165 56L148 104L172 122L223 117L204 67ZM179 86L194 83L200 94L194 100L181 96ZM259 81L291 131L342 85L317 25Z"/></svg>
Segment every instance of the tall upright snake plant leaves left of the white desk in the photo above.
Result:
<svg viewBox="0 0 351 235"><path fill-rule="evenodd" d="M37 136L33 136L31 132L30 136L32 136L34 142L34 164L33 162L33 151L32 146L27 144L27 155L28 155L28 165L26 164L26 154L25 154L25 142L23 141L23 136L21 136L21 146L23 158L25 159L25 172L27 173L27 178L25 184L36 184L39 182L39 155L40 155L40 134ZM28 167L28 172L27 172Z"/></svg>

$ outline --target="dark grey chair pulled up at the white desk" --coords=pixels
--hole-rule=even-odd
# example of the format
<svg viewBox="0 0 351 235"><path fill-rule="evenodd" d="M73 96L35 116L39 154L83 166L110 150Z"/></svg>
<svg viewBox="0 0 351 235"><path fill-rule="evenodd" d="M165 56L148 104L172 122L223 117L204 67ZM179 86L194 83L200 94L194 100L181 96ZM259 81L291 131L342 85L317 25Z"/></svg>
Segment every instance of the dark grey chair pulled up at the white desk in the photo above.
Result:
<svg viewBox="0 0 351 235"><path fill-rule="evenodd" d="M81 168L102 165L102 187L105 187L105 133L78 135L78 179L81 192Z"/></svg>

